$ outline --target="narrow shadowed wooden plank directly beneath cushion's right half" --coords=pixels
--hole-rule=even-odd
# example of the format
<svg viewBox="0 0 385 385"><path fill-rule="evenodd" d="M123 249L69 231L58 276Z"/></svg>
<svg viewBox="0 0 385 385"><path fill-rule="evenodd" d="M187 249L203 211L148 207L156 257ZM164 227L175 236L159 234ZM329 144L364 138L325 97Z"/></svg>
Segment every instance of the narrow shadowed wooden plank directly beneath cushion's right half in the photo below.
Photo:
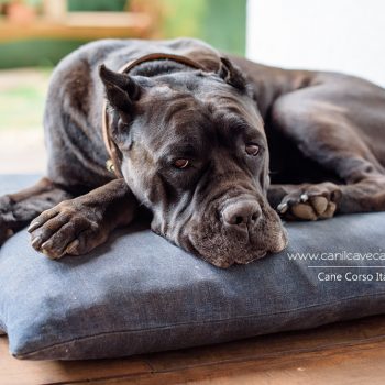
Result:
<svg viewBox="0 0 385 385"><path fill-rule="evenodd" d="M385 317L371 317L338 322L311 330L260 336L215 346L189 349L186 354L168 352L153 354L147 362L155 371L261 360L300 352L317 352L340 346L385 341Z"/></svg>

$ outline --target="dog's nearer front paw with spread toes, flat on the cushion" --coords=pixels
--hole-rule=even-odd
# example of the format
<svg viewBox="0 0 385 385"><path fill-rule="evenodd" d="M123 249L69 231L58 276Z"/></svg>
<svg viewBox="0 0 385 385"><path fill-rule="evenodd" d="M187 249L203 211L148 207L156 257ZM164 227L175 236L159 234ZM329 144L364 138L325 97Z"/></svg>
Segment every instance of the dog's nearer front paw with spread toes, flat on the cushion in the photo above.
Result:
<svg viewBox="0 0 385 385"><path fill-rule="evenodd" d="M66 200L32 221L32 246L51 258L86 254L108 238L98 210Z"/></svg>

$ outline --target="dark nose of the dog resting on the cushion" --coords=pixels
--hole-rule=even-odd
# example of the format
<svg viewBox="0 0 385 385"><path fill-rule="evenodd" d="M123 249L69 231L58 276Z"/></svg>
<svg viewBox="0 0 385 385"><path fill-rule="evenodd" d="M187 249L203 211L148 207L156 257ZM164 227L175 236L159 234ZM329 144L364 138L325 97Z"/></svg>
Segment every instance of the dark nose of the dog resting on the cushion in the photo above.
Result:
<svg viewBox="0 0 385 385"><path fill-rule="evenodd" d="M256 201L245 200L230 204L222 211L224 223L245 226L255 223L261 217L261 208Z"/></svg>

